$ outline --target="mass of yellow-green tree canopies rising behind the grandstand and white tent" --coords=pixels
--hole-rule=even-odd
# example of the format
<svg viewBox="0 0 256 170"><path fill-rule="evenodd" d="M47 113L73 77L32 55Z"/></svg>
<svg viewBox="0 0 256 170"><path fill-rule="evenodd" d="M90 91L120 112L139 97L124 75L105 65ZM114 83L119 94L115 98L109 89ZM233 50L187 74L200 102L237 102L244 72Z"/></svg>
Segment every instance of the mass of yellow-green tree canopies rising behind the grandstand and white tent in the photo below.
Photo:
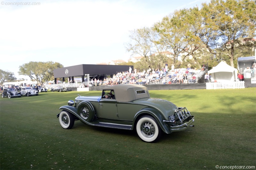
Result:
<svg viewBox="0 0 256 170"><path fill-rule="evenodd" d="M254 0L212 0L202 8L181 9L151 28L134 30L127 51L145 57L148 65L167 62L175 67L188 63L214 66L221 60L236 66L238 57L251 56L256 41ZM161 52L170 52L163 55Z"/></svg>

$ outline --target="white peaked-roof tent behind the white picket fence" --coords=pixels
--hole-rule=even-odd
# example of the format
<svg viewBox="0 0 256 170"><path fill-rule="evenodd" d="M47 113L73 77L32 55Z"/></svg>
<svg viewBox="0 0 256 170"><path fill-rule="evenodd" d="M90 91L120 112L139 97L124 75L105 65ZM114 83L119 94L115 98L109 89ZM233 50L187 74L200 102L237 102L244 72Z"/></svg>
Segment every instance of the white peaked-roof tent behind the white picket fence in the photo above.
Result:
<svg viewBox="0 0 256 170"><path fill-rule="evenodd" d="M237 69L229 66L224 61L221 61L217 66L208 71L212 75L213 81L237 81Z"/></svg>

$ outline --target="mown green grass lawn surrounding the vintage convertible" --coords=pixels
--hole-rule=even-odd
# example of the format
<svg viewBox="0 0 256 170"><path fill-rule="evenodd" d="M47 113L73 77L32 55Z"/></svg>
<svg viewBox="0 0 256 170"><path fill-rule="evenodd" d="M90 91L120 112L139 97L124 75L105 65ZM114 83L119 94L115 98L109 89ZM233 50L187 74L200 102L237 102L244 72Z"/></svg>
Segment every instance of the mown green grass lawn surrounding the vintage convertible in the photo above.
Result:
<svg viewBox="0 0 256 170"><path fill-rule="evenodd" d="M80 121L70 130L63 129L56 117L58 109L77 94L100 96L101 92L1 98L0 169L256 166L256 88L151 90L151 97L185 106L195 116L195 127L164 134L157 143L142 142L135 131L93 127Z"/></svg>

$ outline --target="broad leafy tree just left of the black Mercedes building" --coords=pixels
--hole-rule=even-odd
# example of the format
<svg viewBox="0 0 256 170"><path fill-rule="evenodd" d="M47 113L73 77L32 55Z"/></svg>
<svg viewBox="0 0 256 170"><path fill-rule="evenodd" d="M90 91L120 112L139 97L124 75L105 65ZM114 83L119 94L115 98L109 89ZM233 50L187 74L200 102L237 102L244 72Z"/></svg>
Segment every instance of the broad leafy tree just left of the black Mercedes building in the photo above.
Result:
<svg viewBox="0 0 256 170"><path fill-rule="evenodd" d="M20 66L20 75L27 75L30 79L35 79L37 83L42 84L53 79L53 70L63 67L60 63L52 61L34 62L30 61Z"/></svg>

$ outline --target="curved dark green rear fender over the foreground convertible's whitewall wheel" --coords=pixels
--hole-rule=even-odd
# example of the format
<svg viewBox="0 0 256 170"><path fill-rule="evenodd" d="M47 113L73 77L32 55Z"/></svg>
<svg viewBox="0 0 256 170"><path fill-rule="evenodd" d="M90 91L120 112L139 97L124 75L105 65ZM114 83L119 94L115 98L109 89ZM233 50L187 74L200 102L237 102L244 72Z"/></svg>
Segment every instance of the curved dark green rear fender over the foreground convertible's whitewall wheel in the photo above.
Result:
<svg viewBox="0 0 256 170"><path fill-rule="evenodd" d="M164 133L170 133L170 130L169 130L168 126L163 122L164 116L162 116L162 114L154 108L143 108L142 110L137 112L135 117L134 117L134 121L133 121L133 124L132 124L132 129L136 126L136 123L140 119L140 117L142 117L144 115L153 116L156 119L159 126L161 127L162 131L164 131Z"/></svg>

